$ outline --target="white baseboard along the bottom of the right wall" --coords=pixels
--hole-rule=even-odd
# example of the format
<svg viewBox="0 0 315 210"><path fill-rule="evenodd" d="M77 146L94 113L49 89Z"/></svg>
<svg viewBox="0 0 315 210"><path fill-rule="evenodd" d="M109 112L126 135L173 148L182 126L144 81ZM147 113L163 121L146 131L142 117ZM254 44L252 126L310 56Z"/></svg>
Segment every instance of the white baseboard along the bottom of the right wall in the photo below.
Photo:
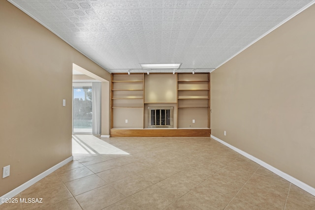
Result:
<svg viewBox="0 0 315 210"><path fill-rule="evenodd" d="M310 185L304 183L303 181L300 181L300 180L297 180L295 179L294 177L284 173L283 171L280 171L279 169L269 165L268 163L265 163L264 161L252 156L251 154L249 153L246 153L245 151L242 151L224 141L222 141L221 139L211 135L211 138L213 138L214 140L220 142L221 144L225 145L226 147L240 153L241 155L251 159L252 161L258 163L259 165L261 165L262 167L268 169L269 171L272 171L273 173L277 174L278 176L284 178L284 180L288 180L289 182L291 182L292 184L300 187L301 189L307 191L308 193L312 194L315 196L315 188L311 187Z"/></svg>

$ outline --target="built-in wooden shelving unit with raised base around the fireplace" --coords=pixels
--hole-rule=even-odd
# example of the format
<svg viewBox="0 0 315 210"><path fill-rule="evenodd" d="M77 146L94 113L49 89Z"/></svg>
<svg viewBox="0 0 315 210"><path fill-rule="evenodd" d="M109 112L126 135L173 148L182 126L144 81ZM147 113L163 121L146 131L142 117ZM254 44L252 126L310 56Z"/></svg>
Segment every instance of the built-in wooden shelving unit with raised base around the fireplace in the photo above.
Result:
<svg viewBox="0 0 315 210"><path fill-rule="evenodd" d="M210 136L210 73L111 79L111 136ZM149 106L174 107L174 127L149 128Z"/></svg>

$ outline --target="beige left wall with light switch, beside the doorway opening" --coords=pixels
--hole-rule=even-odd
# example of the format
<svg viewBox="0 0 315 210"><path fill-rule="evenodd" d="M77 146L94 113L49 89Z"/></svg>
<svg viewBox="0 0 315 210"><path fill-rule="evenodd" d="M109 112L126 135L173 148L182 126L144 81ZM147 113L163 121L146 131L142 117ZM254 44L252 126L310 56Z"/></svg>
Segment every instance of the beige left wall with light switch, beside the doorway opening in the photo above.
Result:
<svg viewBox="0 0 315 210"><path fill-rule="evenodd" d="M0 171L11 166L2 196L72 155L72 63L110 74L5 0L0 29Z"/></svg>

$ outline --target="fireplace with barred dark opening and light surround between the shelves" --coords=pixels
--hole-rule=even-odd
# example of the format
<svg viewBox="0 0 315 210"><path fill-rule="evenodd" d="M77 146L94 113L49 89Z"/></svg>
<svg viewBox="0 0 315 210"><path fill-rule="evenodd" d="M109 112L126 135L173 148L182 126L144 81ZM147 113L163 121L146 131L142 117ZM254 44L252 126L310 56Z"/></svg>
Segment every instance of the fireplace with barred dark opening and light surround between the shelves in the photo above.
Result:
<svg viewBox="0 0 315 210"><path fill-rule="evenodd" d="M172 128L174 107L172 106L149 106L148 128Z"/></svg>

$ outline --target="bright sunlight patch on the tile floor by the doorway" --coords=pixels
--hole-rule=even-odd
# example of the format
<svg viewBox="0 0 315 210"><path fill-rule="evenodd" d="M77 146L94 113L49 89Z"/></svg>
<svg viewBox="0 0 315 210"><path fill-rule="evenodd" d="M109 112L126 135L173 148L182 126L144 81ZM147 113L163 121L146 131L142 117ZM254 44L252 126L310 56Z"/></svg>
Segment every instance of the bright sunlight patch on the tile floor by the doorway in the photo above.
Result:
<svg viewBox="0 0 315 210"><path fill-rule="evenodd" d="M72 154L129 154L93 135L72 135Z"/></svg>

